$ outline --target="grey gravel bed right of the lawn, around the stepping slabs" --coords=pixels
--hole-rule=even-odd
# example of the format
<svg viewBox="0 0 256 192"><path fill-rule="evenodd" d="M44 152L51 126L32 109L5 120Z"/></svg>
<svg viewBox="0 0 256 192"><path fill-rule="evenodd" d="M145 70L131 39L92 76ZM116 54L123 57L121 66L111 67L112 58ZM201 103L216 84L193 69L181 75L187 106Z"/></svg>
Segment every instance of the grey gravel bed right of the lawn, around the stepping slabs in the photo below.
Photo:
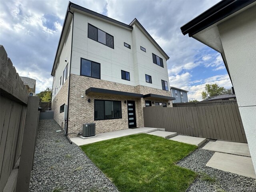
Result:
<svg viewBox="0 0 256 192"><path fill-rule="evenodd" d="M212 140L208 140L192 154L177 163L178 166L188 168L199 174L187 192L256 191L256 179L205 166L214 154L214 151L202 149L209 141Z"/></svg>

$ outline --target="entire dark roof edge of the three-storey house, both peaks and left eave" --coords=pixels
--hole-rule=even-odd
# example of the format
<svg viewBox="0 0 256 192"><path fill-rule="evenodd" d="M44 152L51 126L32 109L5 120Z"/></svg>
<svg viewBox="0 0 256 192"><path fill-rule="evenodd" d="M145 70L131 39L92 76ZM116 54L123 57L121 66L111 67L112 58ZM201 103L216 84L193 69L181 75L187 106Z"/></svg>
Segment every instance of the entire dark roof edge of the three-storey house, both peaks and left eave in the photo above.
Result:
<svg viewBox="0 0 256 192"><path fill-rule="evenodd" d="M57 51L56 51L56 54L55 54L54 64L53 64L53 66L52 66L52 73L51 73L52 75L53 75L53 71L54 71L54 65L55 65L55 63L57 62L57 61L56 61L56 58L57 58L58 51L59 51L59 48L60 48L60 43L61 43L61 40L62 40L62 36L63 36L64 30L65 30L66 22L67 22L67 20L68 20L69 13L70 13L70 10L71 10L72 8L75 8L76 10L79 10L79 11L81 11L81 12L85 12L85 13L87 13L87 14L90 14L90 15L92 15L93 17L97 17L97 18L106 20L106 21L108 21L108 22L112 22L113 24L119 25L119 26L121 26L121 27L123 27L123 28L126 28L126 29L128 29L128 30L132 30L132 29L133 29L132 25L133 25L134 23L138 24L138 26L144 31L144 33L145 33L145 34L148 36L148 38L153 42L153 44L155 44L156 48L158 48L158 50L159 50L160 52L162 52L162 54L165 56L166 60L169 59L169 56L164 52L164 50L162 50L162 48L157 44L157 42L152 38L152 36L150 36L150 34L149 34L149 33L146 31L146 29L140 24L140 22L138 22L138 20L137 20L136 18L134 18L134 20L128 25L128 24L122 23L122 22L120 22L120 21L114 20L114 19L112 19L112 18L109 18L109 17L107 17L107 16L104 16L104 15L102 15L102 14L99 14L99 13L97 13L97 12L94 12L94 11L92 11L92 10L86 9L86 8L84 8L84 7L82 7L82 6L79 6L79 5L77 5L77 4L74 4L74 3L72 3L72 2L69 2L69 3L68 3L68 8L67 8L67 11L66 11L66 16L65 16L65 18L64 18L64 23L63 23L63 26L62 26L62 31L61 31L61 34L60 34L60 39L59 39L59 42L58 42L58 48L57 48Z"/></svg>

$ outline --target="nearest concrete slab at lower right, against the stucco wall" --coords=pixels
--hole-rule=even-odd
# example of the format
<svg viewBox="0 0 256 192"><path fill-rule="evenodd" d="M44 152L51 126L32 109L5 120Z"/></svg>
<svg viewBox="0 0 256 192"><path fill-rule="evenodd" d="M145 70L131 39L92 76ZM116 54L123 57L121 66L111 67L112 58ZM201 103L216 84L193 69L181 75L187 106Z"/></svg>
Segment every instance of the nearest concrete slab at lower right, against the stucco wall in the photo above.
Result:
<svg viewBox="0 0 256 192"><path fill-rule="evenodd" d="M256 179L250 157L215 152L206 166Z"/></svg>

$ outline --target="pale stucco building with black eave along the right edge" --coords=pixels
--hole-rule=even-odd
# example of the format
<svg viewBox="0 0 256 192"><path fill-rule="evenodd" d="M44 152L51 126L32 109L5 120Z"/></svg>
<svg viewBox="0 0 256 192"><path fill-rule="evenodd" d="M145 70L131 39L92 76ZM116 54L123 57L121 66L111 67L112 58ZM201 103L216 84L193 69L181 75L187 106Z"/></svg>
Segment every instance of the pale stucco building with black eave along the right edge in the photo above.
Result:
<svg viewBox="0 0 256 192"><path fill-rule="evenodd" d="M256 172L256 1L221 1L181 30L222 55Z"/></svg>

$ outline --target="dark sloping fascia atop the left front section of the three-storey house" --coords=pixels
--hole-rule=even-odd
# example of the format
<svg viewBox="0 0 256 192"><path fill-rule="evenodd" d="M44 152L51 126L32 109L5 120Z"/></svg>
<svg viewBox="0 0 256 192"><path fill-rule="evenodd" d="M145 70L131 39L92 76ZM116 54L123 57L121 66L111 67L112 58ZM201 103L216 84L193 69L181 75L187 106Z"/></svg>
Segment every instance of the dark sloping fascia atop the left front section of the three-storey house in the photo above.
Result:
<svg viewBox="0 0 256 192"><path fill-rule="evenodd" d="M115 24L124 26L124 27L126 27L126 28L128 28L128 29L131 29L131 30L133 29L133 27L130 26L130 25L127 25L127 24L122 23L122 22L120 22L120 21L117 21L117 20L115 20L115 19L109 18L109 17L107 17L107 16L105 16L105 15L99 14L99 13L94 12L94 11L92 11L92 10L86 9L86 8L84 8L84 7L80 6L80 5L74 4L74 3L72 3L72 2L70 2L70 3L71 3L70 7L73 7L73 8L75 8L75 9L81 10L81 11L86 12L86 13L89 13L89 14L92 14L92 15L97 16L97 17L100 17L100 18L102 18L102 19L106 19L106 20L108 20L108 21L110 21L110 22L113 22L113 23L115 23Z"/></svg>

